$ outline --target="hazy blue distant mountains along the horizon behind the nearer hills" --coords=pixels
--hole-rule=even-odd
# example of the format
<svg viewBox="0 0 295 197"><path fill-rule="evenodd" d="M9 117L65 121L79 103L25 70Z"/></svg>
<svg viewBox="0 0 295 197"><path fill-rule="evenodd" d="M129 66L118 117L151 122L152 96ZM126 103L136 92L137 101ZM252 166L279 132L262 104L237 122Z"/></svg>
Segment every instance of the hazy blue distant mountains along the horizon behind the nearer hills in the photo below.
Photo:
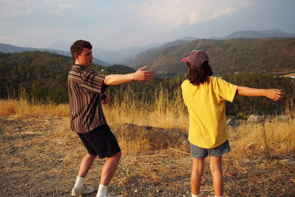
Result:
<svg viewBox="0 0 295 197"><path fill-rule="evenodd" d="M286 33L278 29L263 30L263 31L237 31L223 38L211 37L213 40L228 40L234 38L281 38L281 37L295 37L294 33ZM172 42L155 42L146 46L135 46L119 50L104 50L101 48L93 48L93 62L101 66L109 66L112 64L122 64L137 68L142 61L149 58L161 50L167 49L172 46L179 46L196 40L195 37L185 37L174 40ZM65 56L71 56L69 51L71 44L68 43L54 43L47 48L28 48L17 47L8 44L0 43L0 51L7 52L23 52L23 51L49 51L51 53L58 53ZM95 47L95 46L94 46ZM58 50L56 50L58 49Z"/></svg>

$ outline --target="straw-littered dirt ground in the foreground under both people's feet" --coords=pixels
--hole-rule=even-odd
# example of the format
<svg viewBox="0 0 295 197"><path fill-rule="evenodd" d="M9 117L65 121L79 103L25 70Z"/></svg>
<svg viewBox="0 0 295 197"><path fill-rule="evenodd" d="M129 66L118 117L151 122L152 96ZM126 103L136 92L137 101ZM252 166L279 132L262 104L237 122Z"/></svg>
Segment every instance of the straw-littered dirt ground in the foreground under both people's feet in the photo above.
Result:
<svg viewBox="0 0 295 197"><path fill-rule="evenodd" d="M71 196L86 150L68 125L69 119L61 117L0 117L0 196ZM111 126L114 133L123 128ZM124 197L190 196L189 151L150 143L133 152L120 144L124 157L109 191ZM294 154L272 155L271 163L261 155L232 159L234 154L223 160L224 196L294 196ZM96 195L104 161L96 159L85 179L95 193L83 196ZM207 158L205 165L201 196L214 196Z"/></svg>

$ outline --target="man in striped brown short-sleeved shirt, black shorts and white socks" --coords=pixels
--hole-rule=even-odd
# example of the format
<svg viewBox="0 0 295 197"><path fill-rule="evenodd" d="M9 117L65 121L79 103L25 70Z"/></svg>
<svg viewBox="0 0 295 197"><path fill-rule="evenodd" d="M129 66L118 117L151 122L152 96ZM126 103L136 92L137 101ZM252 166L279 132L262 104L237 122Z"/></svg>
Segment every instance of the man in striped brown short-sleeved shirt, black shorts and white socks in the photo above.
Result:
<svg viewBox="0 0 295 197"><path fill-rule="evenodd" d="M101 180L97 197L112 197L107 192L110 179L113 177L121 158L121 149L117 139L106 123L102 104L109 102L105 94L109 85L118 85L132 80L150 81L152 71L144 71L146 66L131 74L103 75L89 69L92 65L92 45L84 40L77 40L71 46L75 64L68 75L68 91L71 128L75 131L87 149L87 154L81 161L73 196L94 192L93 187L83 183L94 159L107 157L101 171Z"/></svg>

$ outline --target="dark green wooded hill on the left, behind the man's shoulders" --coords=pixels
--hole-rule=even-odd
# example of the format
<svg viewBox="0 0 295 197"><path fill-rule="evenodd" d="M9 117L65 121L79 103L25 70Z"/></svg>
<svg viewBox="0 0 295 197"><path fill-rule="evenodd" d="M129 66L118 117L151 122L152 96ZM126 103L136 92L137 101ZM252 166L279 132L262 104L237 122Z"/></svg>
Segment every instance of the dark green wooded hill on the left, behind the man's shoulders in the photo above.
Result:
<svg viewBox="0 0 295 197"><path fill-rule="evenodd" d="M68 72L74 63L72 57L42 51L22 53L0 52L0 97L18 95L20 85L40 100L68 101ZM135 70L127 66L104 67L93 64L90 67L104 74L125 74Z"/></svg>

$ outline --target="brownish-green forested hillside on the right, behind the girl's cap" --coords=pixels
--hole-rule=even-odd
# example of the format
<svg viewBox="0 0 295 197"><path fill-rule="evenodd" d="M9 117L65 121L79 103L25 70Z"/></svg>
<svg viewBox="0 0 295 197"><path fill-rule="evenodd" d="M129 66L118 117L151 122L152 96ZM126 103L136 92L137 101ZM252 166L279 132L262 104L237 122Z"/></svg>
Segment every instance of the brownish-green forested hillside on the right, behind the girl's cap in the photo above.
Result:
<svg viewBox="0 0 295 197"><path fill-rule="evenodd" d="M295 70L295 38L198 39L158 51L134 64L133 68L147 65L158 73L183 75L187 67L181 58L187 57L195 49L208 53L215 74L236 71L284 73Z"/></svg>

